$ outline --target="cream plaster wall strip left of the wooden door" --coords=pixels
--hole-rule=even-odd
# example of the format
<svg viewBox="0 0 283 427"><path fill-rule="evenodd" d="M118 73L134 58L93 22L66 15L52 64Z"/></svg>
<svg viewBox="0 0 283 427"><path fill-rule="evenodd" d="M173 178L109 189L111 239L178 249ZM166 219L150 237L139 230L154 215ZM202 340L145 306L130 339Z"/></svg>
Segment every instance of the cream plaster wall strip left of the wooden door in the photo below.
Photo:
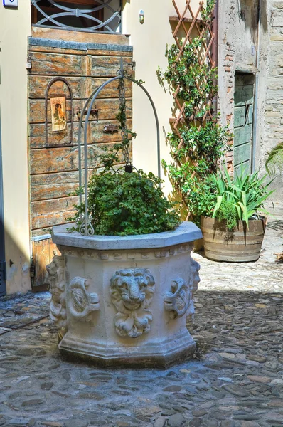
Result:
<svg viewBox="0 0 283 427"><path fill-rule="evenodd" d="M18 9L6 9L2 2L0 4L1 139L8 294L31 288L26 72L31 2L19 0L18 4Z"/></svg>

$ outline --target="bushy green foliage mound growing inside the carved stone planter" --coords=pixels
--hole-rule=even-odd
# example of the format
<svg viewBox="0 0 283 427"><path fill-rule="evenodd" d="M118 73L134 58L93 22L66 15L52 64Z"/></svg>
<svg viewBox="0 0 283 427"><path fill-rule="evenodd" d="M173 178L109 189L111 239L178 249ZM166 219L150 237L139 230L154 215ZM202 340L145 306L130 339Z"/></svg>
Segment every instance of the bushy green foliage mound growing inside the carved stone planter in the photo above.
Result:
<svg viewBox="0 0 283 427"><path fill-rule="evenodd" d="M149 173L117 172L109 169L92 174L88 184L88 209L95 234L129 236L159 233L179 225L173 204L159 187L161 181ZM75 206L77 220L85 204Z"/></svg>

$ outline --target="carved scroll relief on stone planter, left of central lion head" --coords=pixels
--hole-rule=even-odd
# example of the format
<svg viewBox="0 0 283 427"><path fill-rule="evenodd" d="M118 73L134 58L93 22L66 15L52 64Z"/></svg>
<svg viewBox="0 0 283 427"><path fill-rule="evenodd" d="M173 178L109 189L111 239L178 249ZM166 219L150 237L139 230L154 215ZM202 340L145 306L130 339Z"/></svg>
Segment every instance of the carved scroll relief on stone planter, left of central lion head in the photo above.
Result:
<svg viewBox="0 0 283 427"><path fill-rule="evenodd" d="M91 280L76 277L68 286L68 309L70 315L82 322L90 322L92 312L100 310L100 298L87 292Z"/></svg>

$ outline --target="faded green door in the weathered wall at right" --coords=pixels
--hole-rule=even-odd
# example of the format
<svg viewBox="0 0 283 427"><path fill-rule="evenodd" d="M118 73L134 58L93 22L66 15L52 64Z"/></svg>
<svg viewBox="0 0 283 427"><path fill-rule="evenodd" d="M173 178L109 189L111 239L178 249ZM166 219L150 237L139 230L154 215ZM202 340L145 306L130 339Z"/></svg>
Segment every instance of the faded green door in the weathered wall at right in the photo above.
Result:
<svg viewBox="0 0 283 427"><path fill-rule="evenodd" d="M235 74L234 174L240 172L241 164L251 171L254 90L254 75Z"/></svg>

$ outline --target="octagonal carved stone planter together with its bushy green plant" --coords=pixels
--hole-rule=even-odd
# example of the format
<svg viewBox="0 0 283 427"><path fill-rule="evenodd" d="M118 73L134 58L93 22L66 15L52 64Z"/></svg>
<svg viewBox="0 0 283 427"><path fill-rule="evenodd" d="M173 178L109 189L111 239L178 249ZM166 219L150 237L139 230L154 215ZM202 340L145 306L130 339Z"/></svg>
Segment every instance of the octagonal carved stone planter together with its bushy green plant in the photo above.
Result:
<svg viewBox="0 0 283 427"><path fill-rule="evenodd" d="M85 181L75 223L53 227L62 255L47 268L50 312L64 357L102 366L166 367L196 349L186 317L193 315L199 282L191 251L202 235L195 224L180 222L159 178L132 166L134 135L124 111L122 99L122 143L105 151L98 165L103 168ZM121 152L126 166L117 167Z"/></svg>

